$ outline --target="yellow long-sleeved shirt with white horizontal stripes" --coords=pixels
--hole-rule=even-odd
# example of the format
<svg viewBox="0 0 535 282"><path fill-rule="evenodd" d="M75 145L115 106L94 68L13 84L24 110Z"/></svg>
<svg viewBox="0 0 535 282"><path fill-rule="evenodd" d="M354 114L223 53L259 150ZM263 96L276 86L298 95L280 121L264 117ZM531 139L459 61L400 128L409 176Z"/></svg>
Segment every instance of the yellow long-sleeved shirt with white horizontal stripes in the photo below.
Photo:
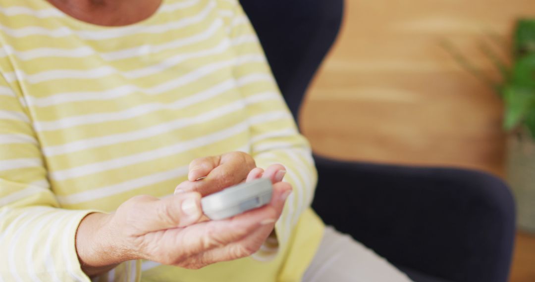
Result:
<svg viewBox="0 0 535 282"><path fill-rule="evenodd" d="M0 281L89 281L84 216L171 194L190 161L230 151L287 168L278 248L201 270L130 261L95 280L300 280L323 231L314 163L236 0L164 0L125 27L0 0L0 45Z"/></svg>

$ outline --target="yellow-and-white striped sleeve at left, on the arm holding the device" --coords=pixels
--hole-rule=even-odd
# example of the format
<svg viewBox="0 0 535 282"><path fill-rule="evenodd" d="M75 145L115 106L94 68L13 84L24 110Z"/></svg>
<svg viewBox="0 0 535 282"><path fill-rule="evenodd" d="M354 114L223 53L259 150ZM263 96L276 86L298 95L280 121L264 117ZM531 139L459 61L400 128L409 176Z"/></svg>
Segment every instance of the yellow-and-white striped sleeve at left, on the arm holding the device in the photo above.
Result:
<svg viewBox="0 0 535 282"><path fill-rule="evenodd" d="M0 281L89 281L74 239L92 211L60 208L24 104L0 77Z"/></svg>

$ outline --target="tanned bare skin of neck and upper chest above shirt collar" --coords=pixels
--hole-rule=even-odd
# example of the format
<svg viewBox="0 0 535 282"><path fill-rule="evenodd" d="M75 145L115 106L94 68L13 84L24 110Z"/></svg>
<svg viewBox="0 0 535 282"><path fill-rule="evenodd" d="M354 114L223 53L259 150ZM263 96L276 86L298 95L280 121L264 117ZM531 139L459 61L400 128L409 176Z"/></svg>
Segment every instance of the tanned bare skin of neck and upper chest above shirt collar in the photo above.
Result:
<svg viewBox="0 0 535 282"><path fill-rule="evenodd" d="M81 21L101 26L126 26L149 18L162 0L47 0Z"/></svg>

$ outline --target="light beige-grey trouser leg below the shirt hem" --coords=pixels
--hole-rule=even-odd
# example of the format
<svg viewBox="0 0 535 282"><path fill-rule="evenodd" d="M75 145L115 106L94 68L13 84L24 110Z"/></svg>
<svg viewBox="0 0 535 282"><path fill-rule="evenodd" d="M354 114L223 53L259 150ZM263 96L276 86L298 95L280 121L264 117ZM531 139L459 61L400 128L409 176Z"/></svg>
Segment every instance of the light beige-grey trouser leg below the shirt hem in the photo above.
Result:
<svg viewBox="0 0 535 282"><path fill-rule="evenodd" d="M331 226L325 228L318 251L303 282L405 282L407 275L372 250Z"/></svg>

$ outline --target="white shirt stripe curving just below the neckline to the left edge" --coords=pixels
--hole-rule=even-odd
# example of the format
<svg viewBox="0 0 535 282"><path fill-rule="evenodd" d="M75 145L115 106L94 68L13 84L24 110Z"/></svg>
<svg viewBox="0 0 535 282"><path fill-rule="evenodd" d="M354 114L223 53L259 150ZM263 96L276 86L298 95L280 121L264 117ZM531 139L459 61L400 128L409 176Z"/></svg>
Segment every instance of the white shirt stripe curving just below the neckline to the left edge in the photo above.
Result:
<svg viewBox="0 0 535 282"><path fill-rule="evenodd" d="M160 34L169 30L185 28L195 23L202 22L209 15L210 12L216 7L214 1L210 1L209 4L204 7L201 12L198 12L193 17L184 18L174 22L164 23L162 25L154 26L126 26L117 27L108 30L82 30L77 32L77 35L84 40L105 40L111 38L120 38L129 35L140 35L144 33ZM0 29L7 35L15 38L38 35L49 37L65 37L73 35L73 30L67 27L60 27L57 29L47 29L42 27L25 27L25 28L10 28L0 25Z"/></svg>

